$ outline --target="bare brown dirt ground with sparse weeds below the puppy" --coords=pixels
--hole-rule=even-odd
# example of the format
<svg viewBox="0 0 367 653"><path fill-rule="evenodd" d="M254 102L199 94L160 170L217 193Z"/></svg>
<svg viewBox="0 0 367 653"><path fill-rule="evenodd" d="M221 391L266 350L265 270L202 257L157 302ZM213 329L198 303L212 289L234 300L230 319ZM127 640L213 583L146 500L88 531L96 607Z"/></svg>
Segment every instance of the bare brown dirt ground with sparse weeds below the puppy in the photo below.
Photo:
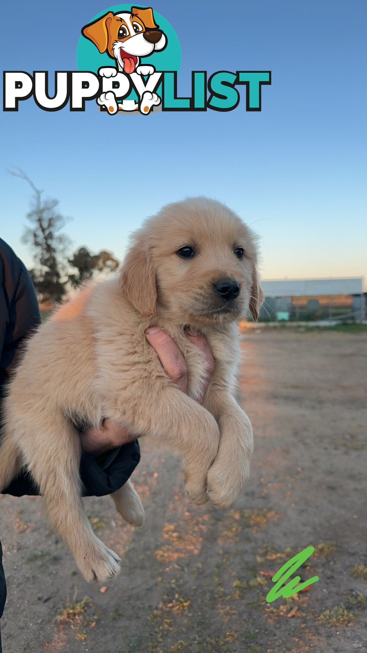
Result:
<svg viewBox="0 0 367 653"><path fill-rule="evenodd" d="M2 498L4 653L367 651L367 334L257 329L242 340L255 453L230 511L192 505L180 462L143 442L143 528L122 528L109 498L85 502L123 558L101 588L82 580L42 500ZM300 575L319 581L266 603L272 575L308 545Z"/></svg>

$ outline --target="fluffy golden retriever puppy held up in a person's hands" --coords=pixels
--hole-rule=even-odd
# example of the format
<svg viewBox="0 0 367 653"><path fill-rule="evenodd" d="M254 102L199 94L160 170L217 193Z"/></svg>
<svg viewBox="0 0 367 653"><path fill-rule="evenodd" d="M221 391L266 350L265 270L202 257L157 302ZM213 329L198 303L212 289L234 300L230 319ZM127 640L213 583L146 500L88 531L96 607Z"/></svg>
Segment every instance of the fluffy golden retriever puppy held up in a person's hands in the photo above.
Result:
<svg viewBox="0 0 367 653"><path fill-rule="evenodd" d="M0 490L20 466L38 483L48 517L86 581L118 573L118 556L91 530L80 488L78 420L104 417L181 454L191 499L231 505L249 475L253 436L233 397L240 358L236 321L256 320L263 295L253 232L205 198L165 206L133 234L120 274L91 283L29 340L5 399ZM188 396L163 371L144 331L157 326L180 347ZM204 359L185 337L200 330L215 358L204 404ZM112 495L122 517L144 520L128 481Z"/></svg>

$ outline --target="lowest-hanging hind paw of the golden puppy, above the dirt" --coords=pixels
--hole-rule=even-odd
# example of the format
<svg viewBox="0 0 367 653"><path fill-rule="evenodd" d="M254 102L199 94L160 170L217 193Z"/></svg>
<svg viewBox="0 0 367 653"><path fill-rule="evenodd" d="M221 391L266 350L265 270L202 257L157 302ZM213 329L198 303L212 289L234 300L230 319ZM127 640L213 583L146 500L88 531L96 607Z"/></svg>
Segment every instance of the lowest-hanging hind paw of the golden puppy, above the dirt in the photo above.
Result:
<svg viewBox="0 0 367 653"><path fill-rule="evenodd" d="M120 573L118 554L108 549L98 537L95 537L75 556L80 573L87 582L105 582Z"/></svg>

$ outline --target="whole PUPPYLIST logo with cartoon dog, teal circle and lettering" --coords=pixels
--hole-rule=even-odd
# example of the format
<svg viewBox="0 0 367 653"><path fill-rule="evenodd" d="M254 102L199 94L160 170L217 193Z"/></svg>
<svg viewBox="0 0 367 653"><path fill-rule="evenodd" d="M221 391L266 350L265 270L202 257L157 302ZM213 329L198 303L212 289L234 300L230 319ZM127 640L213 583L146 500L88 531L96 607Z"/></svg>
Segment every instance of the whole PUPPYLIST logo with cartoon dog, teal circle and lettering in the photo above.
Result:
<svg viewBox="0 0 367 653"><path fill-rule="evenodd" d="M78 71L56 71L54 95L48 71L4 71L3 110L18 111L19 101L33 97L45 111L69 103L85 111L95 100L110 116L157 111L231 111L246 86L246 111L261 111L261 90L271 84L270 71L191 72L191 97L178 96L181 49L172 25L152 7L114 5L94 16L78 42Z"/></svg>

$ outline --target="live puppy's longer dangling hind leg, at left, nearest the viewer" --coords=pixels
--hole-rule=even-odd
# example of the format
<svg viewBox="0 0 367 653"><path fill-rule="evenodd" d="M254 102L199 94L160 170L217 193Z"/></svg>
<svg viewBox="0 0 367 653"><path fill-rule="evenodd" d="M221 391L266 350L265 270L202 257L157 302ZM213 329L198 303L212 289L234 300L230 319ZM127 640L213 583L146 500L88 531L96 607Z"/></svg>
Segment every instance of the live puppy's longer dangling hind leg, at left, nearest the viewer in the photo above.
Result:
<svg viewBox="0 0 367 653"><path fill-rule="evenodd" d="M56 413L51 417L48 413L46 430L45 424L33 424L32 432L34 437L28 437L26 445L22 441L23 451L52 526L71 549L86 581L114 577L120 571L120 558L96 537L84 512L78 434Z"/></svg>

